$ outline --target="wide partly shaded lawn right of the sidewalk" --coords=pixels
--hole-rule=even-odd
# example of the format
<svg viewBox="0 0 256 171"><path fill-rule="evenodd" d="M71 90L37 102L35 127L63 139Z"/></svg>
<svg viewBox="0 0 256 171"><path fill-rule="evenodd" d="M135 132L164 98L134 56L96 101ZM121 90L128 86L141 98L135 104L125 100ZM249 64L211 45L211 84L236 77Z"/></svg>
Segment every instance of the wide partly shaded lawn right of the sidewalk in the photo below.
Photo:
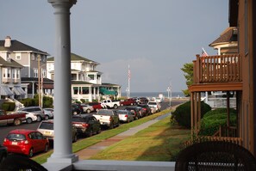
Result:
<svg viewBox="0 0 256 171"><path fill-rule="evenodd" d="M171 125L170 117L159 120L134 136L109 146L91 160L159 161L170 162L180 146L190 138L190 130Z"/></svg>

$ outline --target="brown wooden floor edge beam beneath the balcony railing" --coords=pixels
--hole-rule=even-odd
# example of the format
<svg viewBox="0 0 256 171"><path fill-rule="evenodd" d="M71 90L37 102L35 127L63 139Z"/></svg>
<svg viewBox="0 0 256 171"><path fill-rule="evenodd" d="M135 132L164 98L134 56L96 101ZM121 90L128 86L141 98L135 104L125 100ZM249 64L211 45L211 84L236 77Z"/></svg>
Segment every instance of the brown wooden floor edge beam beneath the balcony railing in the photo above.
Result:
<svg viewBox="0 0 256 171"><path fill-rule="evenodd" d="M223 82L223 83L200 83L192 84L189 87L190 92L203 91L238 91L242 90L242 82Z"/></svg>

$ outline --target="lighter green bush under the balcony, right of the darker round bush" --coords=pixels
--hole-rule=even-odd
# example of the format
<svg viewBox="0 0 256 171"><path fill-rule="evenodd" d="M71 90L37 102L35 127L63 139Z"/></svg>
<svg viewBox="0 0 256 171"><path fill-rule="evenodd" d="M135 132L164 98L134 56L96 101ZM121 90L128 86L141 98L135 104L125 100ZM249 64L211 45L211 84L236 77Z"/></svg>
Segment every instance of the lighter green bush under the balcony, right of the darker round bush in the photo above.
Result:
<svg viewBox="0 0 256 171"><path fill-rule="evenodd" d="M230 109L230 125L236 125L236 110ZM219 126L227 125L227 109L218 108L213 111L209 111L201 119L201 130L199 135L212 136L219 130Z"/></svg>

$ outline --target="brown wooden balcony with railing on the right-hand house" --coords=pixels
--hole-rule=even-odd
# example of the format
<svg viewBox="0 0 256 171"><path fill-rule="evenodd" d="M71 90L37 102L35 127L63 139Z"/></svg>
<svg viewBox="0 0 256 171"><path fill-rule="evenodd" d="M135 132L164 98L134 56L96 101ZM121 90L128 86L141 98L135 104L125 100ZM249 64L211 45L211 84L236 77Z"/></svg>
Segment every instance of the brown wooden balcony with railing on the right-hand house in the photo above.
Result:
<svg viewBox="0 0 256 171"><path fill-rule="evenodd" d="M193 61L190 92L235 91L242 89L240 54L200 57Z"/></svg>

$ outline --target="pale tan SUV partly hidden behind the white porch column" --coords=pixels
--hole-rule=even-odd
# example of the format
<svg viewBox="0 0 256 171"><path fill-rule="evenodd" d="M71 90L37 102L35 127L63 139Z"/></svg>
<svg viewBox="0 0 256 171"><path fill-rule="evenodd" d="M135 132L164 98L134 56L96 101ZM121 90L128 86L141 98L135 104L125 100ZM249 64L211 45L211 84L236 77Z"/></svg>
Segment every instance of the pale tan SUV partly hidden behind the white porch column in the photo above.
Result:
<svg viewBox="0 0 256 171"><path fill-rule="evenodd" d="M53 141L54 139L53 119L42 120L40 125L38 125L36 131L40 131L50 141ZM77 140L78 140L78 131L74 126L72 126L72 142L76 142Z"/></svg>

